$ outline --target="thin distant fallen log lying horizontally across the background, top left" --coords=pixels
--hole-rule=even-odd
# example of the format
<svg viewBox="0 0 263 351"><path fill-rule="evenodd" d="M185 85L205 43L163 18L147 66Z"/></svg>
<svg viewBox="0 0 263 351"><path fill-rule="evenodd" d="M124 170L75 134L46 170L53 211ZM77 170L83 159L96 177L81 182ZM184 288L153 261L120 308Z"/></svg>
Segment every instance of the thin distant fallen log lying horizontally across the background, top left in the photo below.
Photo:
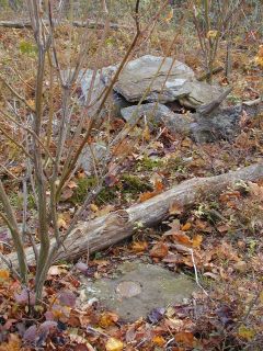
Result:
<svg viewBox="0 0 263 351"><path fill-rule="evenodd" d="M47 21L44 21L47 23ZM65 25L67 24L67 22L59 22L56 23L54 21L54 25ZM71 24L72 26L76 27L88 27L88 29L96 29L96 30L101 30L104 29L105 24L102 22L96 22L96 21L92 21L92 20L88 20L87 22L84 21L73 21L73 22L69 22L69 24ZM0 21L0 26L3 27L9 27L9 29L32 29L32 24L31 21L28 20L24 20L24 21ZM127 25L121 25L117 23L110 23L110 29L111 30L122 30L122 29L130 29Z"/></svg>

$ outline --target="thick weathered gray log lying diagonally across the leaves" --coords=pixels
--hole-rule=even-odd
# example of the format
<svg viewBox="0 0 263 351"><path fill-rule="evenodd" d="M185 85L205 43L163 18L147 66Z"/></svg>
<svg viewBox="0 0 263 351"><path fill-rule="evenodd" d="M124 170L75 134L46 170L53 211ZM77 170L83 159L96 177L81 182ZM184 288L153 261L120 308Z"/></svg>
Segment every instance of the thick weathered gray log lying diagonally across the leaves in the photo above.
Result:
<svg viewBox="0 0 263 351"><path fill-rule="evenodd" d="M163 220L173 204L191 205L209 194L220 193L240 180L256 181L262 178L263 162L220 176L194 178L127 210L116 211L90 222L80 222L65 240L66 249L58 252L56 261L76 260L88 250L92 253L111 247L132 236L138 223L150 227ZM25 252L28 264L34 264L33 249L26 248ZM7 254L5 259L12 262L13 267L18 267L15 253ZM1 262L0 267L3 264Z"/></svg>

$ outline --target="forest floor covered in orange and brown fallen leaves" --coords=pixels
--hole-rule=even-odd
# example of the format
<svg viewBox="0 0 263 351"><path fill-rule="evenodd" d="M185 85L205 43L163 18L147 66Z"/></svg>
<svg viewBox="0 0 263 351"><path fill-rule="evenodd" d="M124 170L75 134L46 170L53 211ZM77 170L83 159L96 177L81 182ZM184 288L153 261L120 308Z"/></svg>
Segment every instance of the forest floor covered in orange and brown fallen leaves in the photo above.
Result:
<svg viewBox="0 0 263 351"><path fill-rule="evenodd" d="M171 37L170 32L157 33L148 47L136 52L136 57L167 54ZM23 76L26 84L33 84L35 57L31 31L0 29L0 70L12 75L9 81L14 87L21 83L19 76ZM60 39L62 43L62 35ZM107 60L101 66L117 63L129 39L130 34L125 31L112 33L107 38ZM224 72L215 77L219 84L233 87L229 104L255 100L263 91L262 68L254 61L259 42L250 33L245 38L237 36L229 81ZM176 55L197 76L203 72L196 37L179 36L169 55ZM217 65L222 65L224 60L221 52ZM26 90L26 84L24 93L30 101L34 97ZM3 104L1 99L0 107ZM165 132L156 139L155 131L151 134L149 129L138 127L135 133L142 134L144 138L133 145L133 155L125 161L123 176L113 185L105 186L92 204L92 217L146 201L194 177L216 176L259 162L263 156L262 117L259 115L248 122L244 115L242 132L230 143L220 140L197 145L188 137ZM115 118L111 127L115 133L122 126L123 122ZM149 143L150 146L146 147ZM128 145L129 140L125 140L115 152L122 154ZM5 168L1 170L1 177L4 176L18 217L22 217L23 196L18 179L25 165L15 145L3 141L2 137L0 163ZM61 226L67 227L71 208L81 204L91 181L79 170L65 190ZM82 265L76 265L76 262L53 265L37 314L30 310L23 293L14 294L20 291L20 283L8 271L0 270L0 351L262 350L262 214L263 180L237 184L217 196L210 194L187 208L171 208L168 218L158 227L138 226L129 240L92 257L82 257ZM8 240L7 233L3 223L0 225L0 252L8 253L2 244ZM172 236L165 235L171 228ZM174 242L192 248L194 260L187 252L179 252ZM184 273L193 282L197 269L203 290L194 292L180 305L156 306L146 318L133 322L123 320L116 312L107 310L98 302L77 305L69 294L79 296L83 275L91 281L112 276L123 261L136 260ZM56 295L59 297L55 298Z"/></svg>

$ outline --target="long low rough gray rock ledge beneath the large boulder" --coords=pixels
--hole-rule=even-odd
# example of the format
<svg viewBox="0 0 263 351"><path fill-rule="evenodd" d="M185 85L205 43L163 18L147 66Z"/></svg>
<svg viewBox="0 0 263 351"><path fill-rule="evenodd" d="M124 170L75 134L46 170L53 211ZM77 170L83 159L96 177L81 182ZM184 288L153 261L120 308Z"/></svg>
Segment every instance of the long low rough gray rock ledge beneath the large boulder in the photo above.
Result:
<svg viewBox="0 0 263 351"><path fill-rule="evenodd" d="M242 106L217 109L209 115L201 113L179 114L160 103L122 109L123 118L129 124L147 120L150 128L164 125L170 133L190 135L197 143L211 143L218 139L232 139L240 132Z"/></svg>

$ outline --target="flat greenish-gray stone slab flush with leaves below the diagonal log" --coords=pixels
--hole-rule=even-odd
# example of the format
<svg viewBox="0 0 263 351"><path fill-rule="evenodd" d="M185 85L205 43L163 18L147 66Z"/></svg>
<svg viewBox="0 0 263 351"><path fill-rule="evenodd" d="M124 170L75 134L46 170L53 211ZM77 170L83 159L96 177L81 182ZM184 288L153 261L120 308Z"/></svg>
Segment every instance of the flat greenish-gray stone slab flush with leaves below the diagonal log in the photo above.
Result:
<svg viewBox="0 0 263 351"><path fill-rule="evenodd" d="M146 318L153 308L182 303L196 288L195 282L184 274L139 261L121 264L114 279L81 281L82 304L98 298L127 321Z"/></svg>

